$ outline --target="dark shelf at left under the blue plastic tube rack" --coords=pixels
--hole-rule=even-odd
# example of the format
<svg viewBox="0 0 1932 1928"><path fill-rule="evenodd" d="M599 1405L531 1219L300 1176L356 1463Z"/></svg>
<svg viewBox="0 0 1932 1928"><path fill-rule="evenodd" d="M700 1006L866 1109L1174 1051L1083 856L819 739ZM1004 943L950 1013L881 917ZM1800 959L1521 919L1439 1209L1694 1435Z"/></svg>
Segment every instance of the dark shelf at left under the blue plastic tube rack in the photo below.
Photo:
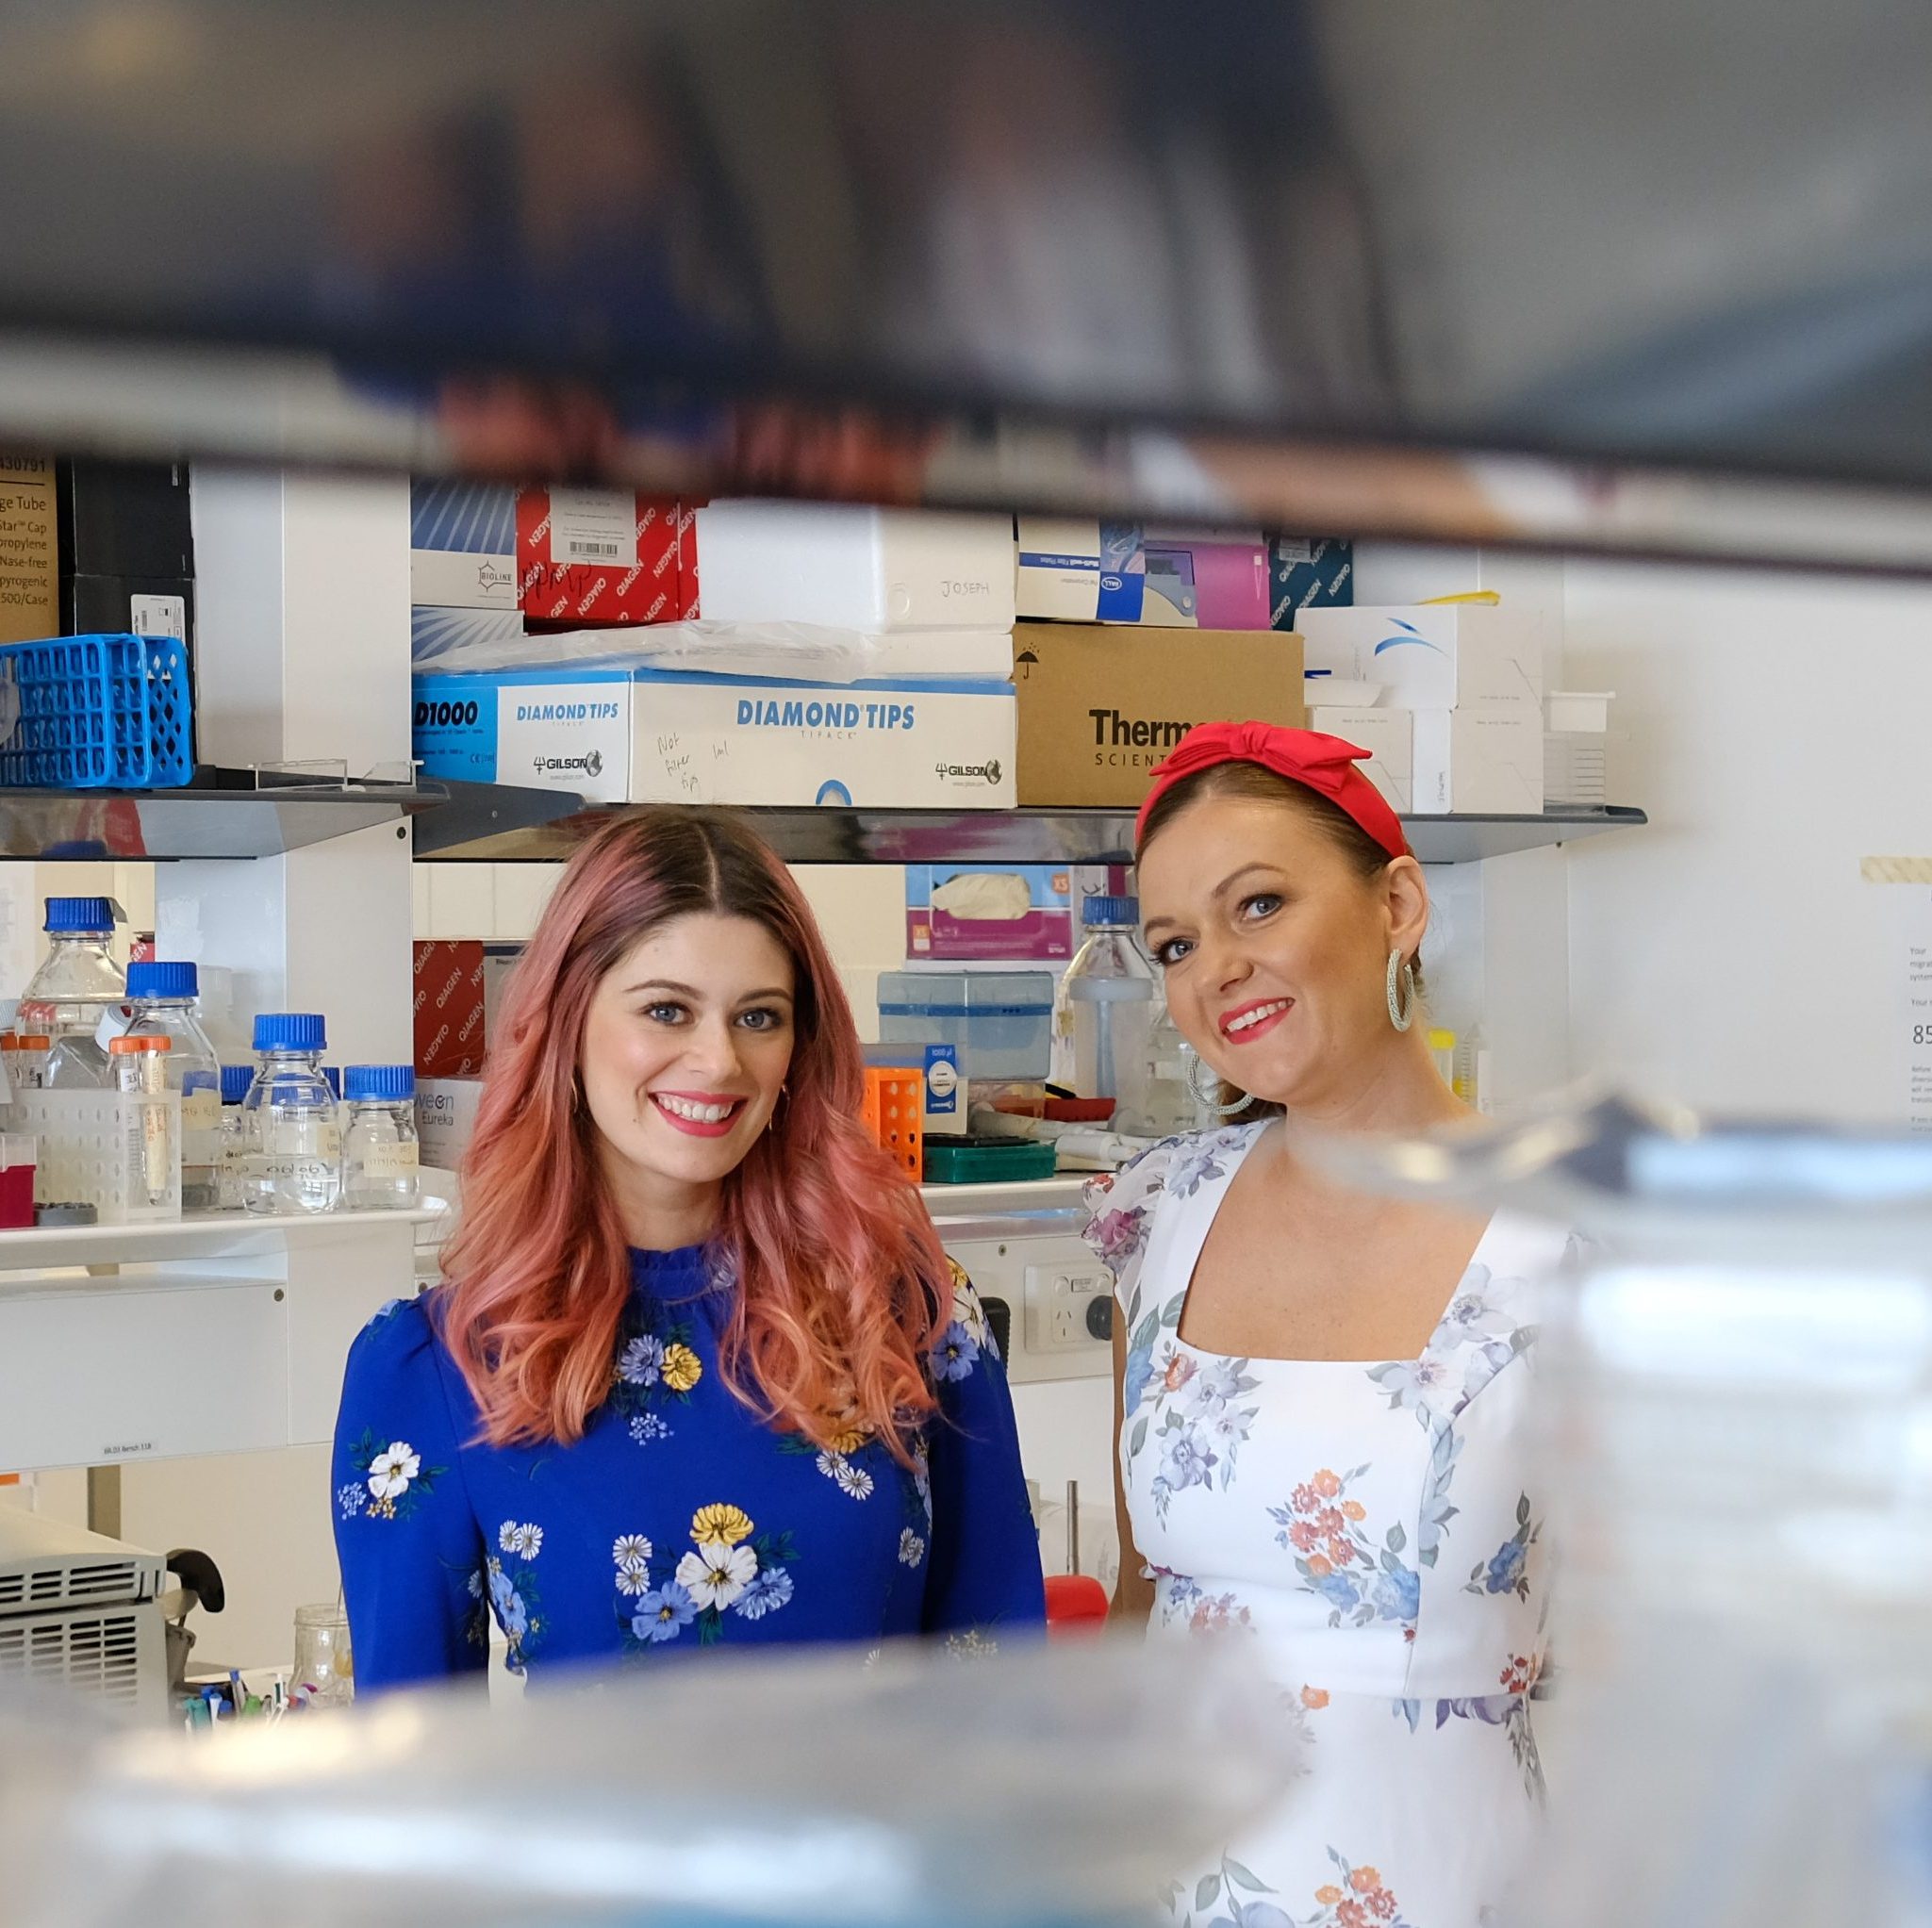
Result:
<svg viewBox="0 0 1932 1928"><path fill-rule="evenodd" d="M328 780L203 767L182 790L0 790L0 858L168 862L270 858L404 823L442 784Z"/></svg>

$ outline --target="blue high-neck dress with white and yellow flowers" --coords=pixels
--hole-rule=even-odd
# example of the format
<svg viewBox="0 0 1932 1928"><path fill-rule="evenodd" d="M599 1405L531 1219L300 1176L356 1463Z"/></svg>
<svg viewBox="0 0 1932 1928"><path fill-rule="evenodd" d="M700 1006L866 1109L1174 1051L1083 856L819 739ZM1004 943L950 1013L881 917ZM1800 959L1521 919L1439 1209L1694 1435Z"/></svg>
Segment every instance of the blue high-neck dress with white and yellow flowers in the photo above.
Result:
<svg viewBox="0 0 1932 1928"><path fill-rule="evenodd" d="M634 1252L611 1397L576 1445L479 1441L429 1300L350 1350L334 1520L363 1690L676 1648L945 1634L1043 1621L1039 1544L985 1314L954 1267L939 1414L910 1468L864 1428L829 1449L724 1385L734 1285L703 1248Z"/></svg>

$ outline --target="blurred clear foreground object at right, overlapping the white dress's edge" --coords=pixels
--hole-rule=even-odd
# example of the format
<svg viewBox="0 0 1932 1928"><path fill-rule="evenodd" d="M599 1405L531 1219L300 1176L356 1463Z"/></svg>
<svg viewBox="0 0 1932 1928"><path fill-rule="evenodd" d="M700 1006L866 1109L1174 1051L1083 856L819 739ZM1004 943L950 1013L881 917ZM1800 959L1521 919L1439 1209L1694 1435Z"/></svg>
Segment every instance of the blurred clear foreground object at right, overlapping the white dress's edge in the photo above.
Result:
<svg viewBox="0 0 1932 1928"><path fill-rule="evenodd" d="M1932 1920L1932 1140L1580 1097L1302 1155L1575 1233L1553 1833L1515 1918Z"/></svg>

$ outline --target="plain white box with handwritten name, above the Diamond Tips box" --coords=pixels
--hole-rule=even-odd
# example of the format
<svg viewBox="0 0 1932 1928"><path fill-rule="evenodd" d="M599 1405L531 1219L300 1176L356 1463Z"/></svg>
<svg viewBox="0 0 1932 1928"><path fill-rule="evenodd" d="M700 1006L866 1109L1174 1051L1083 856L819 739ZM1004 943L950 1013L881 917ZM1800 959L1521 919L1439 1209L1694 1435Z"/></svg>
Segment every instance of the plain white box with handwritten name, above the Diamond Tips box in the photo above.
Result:
<svg viewBox="0 0 1932 1928"><path fill-rule="evenodd" d="M707 622L1010 630L1012 522L827 502L697 510Z"/></svg>

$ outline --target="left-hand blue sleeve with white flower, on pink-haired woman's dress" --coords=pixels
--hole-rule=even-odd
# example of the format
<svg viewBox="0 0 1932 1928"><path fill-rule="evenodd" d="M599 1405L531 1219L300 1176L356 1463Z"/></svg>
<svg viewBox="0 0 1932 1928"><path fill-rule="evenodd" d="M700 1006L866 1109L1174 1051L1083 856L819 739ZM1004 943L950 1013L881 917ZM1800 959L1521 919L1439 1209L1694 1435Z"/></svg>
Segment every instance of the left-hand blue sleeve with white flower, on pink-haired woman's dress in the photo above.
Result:
<svg viewBox="0 0 1932 1928"><path fill-rule="evenodd" d="M350 1348L332 1511L361 1690L489 1665L491 1561L435 1348L421 1300L386 1306Z"/></svg>

